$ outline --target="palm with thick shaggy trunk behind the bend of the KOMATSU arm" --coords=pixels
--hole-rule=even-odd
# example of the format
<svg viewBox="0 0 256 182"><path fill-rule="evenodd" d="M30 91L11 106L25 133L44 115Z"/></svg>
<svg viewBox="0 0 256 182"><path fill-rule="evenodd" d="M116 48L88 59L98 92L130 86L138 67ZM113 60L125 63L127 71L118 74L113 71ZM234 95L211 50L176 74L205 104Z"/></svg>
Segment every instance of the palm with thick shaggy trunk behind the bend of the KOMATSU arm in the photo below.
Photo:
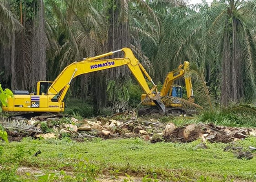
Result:
<svg viewBox="0 0 256 182"><path fill-rule="evenodd" d="M109 0L108 4L108 51L129 47L148 71L152 70L152 62L148 58L158 47L161 23L152 7L159 4L150 4L143 0ZM170 4L170 1L165 1L165 4ZM112 98L110 102L115 102L116 107L121 108L128 96L124 96L127 90L120 85L128 83L129 72L126 68L115 68L108 71L107 77L115 83L113 86L113 82L109 82L109 88L112 88L109 89L109 97ZM117 95L121 97L116 97Z"/></svg>

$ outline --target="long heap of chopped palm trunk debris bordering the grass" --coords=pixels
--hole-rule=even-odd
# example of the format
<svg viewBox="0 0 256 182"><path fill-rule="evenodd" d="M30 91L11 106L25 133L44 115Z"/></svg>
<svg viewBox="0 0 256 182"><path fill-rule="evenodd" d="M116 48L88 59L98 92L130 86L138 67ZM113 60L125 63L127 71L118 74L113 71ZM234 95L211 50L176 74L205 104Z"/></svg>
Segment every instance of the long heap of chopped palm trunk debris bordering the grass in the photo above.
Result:
<svg viewBox="0 0 256 182"><path fill-rule="evenodd" d="M66 117L64 119L46 118L43 121L41 118L31 118L20 122L26 122L29 127L38 128L39 132L24 130L24 128L16 128L16 130L12 128L9 131L10 137L12 134L17 135L17 132L22 132L22 136L32 136L34 138L71 137L77 141L96 137L103 139L140 137L151 143L191 142L197 139L230 143L242 140L249 135L256 136L255 128L223 127L203 123L176 127L173 123L164 124L157 119L141 120L136 116L127 117L125 120L117 120L111 117L78 120Z"/></svg>

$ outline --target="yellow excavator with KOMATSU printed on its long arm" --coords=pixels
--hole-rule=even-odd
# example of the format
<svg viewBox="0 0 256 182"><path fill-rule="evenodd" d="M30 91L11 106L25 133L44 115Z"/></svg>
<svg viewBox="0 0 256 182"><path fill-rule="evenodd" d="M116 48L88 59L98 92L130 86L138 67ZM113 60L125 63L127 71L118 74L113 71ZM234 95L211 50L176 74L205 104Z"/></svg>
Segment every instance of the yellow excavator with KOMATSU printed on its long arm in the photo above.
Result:
<svg viewBox="0 0 256 182"><path fill-rule="evenodd" d="M124 58L102 59L120 51L124 52ZM128 66L144 92L146 92L147 97L153 101L160 112L164 113L165 106L161 102L159 94L154 94L158 93L157 86L129 48L74 62L65 67L53 82L38 81L36 94L29 94L28 91L13 91L14 97L8 98L7 106L2 106L2 109L8 112L63 112L65 107L63 99L67 94L72 79L82 74L124 65ZM151 89L144 75L153 83Z"/></svg>

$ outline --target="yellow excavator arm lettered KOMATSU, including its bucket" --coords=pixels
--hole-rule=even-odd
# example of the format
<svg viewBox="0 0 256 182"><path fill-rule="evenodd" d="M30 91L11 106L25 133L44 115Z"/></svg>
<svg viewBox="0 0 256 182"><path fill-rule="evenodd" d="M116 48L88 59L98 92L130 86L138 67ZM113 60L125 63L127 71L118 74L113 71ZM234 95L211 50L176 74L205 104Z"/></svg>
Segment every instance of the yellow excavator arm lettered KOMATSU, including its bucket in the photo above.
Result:
<svg viewBox="0 0 256 182"><path fill-rule="evenodd" d="M114 53L120 51L124 52L124 58L102 59L106 56L111 56ZM65 95L67 94L72 79L74 79L76 76L124 65L128 66L129 70L135 76L139 85L143 88L144 92L146 92L148 98L153 100L155 104L159 107L159 109L164 113L165 106L160 101L159 95L153 94L154 91L158 93L157 86L152 81L151 77L148 75L147 71L144 69L142 64L140 64L139 61L135 58L135 56L133 55L132 51L129 48L123 48L118 51L108 52L106 54L102 54L92 58L87 58L81 62L74 62L65 67L64 70L59 74L59 76L57 76L57 78L48 88L49 102L57 94L60 94L58 97L58 102L62 102ZM150 82L153 83L153 88L150 89L148 87L144 75Z"/></svg>

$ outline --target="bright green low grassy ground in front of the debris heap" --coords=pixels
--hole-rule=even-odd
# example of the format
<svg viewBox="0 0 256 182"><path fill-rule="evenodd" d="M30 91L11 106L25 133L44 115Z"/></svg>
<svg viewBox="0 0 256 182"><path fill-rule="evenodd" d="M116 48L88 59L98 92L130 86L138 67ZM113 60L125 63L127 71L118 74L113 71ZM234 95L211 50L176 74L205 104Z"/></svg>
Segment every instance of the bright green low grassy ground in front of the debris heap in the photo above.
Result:
<svg viewBox="0 0 256 182"><path fill-rule="evenodd" d="M95 179L98 174L125 175L166 181L232 181L256 179L256 158L237 159L232 151L223 149L228 144L206 143L208 149L195 149L192 143L155 143L139 138L75 142L70 139L34 140L4 144L1 161L4 166L33 167L43 174L22 171L15 177L22 181L82 181ZM229 144L230 145L230 144ZM247 138L234 146L256 146L256 138ZM34 156L37 151L41 154ZM256 153L253 153L255 156ZM16 158L18 156L18 158ZM16 158L13 161L9 159ZM3 163L3 162L2 162ZM2 174L2 180L8 173ZM55 172L54 172L55 171ZM17 172L15 172L17 174ZM148 176L147 176L148 175ZM63 177L64 176L64 177ZM74 177L75 176L75 177ZM148 179L146 179L148 178ZM90 180L89 180L90 181ZM157 181L157 180L155 180Z"/></svg>

